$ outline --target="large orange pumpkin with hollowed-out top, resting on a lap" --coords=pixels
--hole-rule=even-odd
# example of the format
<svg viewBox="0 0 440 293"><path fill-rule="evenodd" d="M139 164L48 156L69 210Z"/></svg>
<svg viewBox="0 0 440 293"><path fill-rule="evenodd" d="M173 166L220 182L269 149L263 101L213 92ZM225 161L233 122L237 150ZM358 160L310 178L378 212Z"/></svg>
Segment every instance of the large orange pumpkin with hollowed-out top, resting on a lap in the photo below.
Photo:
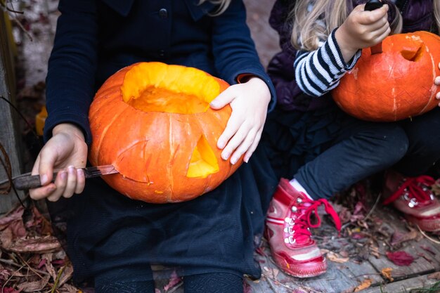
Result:
<svg viewBox="0 0 440 293"><path fill-rule="evenodd" d="M113 164L103 179L135 200L190 200L216 188L238 169L221 159L217 140L231 107L209 103L228 84L202 70L136 63L112 75L91 104L94 165Z"/></svg>

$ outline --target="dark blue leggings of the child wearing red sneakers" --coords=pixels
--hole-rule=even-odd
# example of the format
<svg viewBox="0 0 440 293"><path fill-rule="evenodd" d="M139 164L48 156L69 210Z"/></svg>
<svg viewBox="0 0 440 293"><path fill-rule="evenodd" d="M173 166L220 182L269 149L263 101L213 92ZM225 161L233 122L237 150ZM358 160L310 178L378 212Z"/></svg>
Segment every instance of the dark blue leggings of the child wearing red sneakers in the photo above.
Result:
<svg viewBox="0 0 440 293"><path fill-rule="evenodd" d="M426 174L440 158L440 108L394 123L342 122L332 146L304 164L295 178L314 198L329 198L361 179L393 167L404 176Z"/></svg>

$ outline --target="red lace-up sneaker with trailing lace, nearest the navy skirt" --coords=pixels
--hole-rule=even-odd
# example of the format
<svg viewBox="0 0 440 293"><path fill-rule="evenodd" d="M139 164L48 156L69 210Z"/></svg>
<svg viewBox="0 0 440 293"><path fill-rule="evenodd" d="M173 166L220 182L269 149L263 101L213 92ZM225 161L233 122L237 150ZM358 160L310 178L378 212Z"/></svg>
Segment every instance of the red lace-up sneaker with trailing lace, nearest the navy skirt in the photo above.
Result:
<svg viewBox="0 0 440 293"><path fill-rule="evenodd" d="M265 236L271 247L276 265L288 275L309 278L325 273L327 263L311 237L309 227L321 225L318 207L335 219L338 230L341 223L336 211L327 200L310 200L304 193L295 190L289 181L282 178L268 209ZM311 223L315 214L317 223Z"/></svg>

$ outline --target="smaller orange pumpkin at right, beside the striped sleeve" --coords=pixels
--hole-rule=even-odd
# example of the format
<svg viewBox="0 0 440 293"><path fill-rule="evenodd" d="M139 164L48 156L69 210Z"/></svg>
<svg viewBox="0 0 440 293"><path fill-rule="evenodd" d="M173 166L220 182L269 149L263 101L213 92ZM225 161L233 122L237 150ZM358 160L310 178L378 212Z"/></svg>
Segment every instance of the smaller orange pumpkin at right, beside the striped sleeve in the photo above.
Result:
<svg viewBox="0 0 440 293"><path fill-rule="evenodd" d="M363 120L392 122L421 115L438 104L440 37L429 32L394 34L382 53L364 48L332 97L342 110Z"/></svg>

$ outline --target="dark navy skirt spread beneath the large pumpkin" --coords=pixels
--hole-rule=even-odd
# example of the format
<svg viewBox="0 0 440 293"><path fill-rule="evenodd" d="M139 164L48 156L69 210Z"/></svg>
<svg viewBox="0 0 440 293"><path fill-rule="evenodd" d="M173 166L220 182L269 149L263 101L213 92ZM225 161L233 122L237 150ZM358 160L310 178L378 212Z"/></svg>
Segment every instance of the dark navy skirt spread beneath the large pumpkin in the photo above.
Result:
<svg viewBox="0 0 440 293"><path fill-rule="evenodd" d="M93 178L81 195L49 207L53 219L67 217L67 254L76 282L96 276L151 280L152 264L181 276L223 272L259 278L254 248L277 183L259 147L218 188L188 202L130 200Z"/></svg>

